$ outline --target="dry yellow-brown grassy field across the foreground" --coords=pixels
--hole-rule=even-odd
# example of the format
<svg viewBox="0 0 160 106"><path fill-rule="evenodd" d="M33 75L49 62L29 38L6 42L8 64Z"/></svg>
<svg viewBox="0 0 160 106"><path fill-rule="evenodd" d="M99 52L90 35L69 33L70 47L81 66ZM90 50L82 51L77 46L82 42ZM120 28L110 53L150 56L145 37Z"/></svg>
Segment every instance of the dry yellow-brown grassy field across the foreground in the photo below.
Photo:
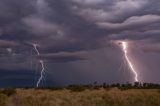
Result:
<svg viewBox="0 0 160 106"><path fill-rule="evenodd" d="M1 89L0 106L160 106L160 90Z"/></svg>

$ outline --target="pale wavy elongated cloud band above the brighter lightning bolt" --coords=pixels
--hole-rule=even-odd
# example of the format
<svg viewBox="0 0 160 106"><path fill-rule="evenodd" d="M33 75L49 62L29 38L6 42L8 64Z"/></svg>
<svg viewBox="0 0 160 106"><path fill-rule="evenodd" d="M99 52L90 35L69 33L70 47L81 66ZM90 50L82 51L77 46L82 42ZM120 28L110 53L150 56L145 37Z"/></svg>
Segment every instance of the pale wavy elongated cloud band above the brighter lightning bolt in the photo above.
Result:
<svg viewBox="0 0 160 106"><path fill-rule="evenodd" d="M99 26L107 30L132 30L160 22L158 15L133 16L123 23L98 23Z"/></svg>

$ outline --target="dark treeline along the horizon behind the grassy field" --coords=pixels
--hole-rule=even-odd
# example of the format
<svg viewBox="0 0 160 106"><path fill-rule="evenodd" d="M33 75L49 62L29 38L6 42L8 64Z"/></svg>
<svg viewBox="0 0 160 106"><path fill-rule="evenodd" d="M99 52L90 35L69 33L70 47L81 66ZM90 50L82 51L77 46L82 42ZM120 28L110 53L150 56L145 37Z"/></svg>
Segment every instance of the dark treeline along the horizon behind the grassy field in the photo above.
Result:
<svg viewBox="0 0 160 106"><path fill-rule="evenodd" d="M135 83L125 83L125 84L98 84L97 82L94 82L93 84L87 84L87 85L68 85L68 86L62 86L62 87L39 87L35 89L50 89L50 90L63 90L68 89L71 91L84 91L84 90L98 90L98 89L106 89L109 90L111 88L118 88L120 90L127 90L127 89L160 89L160 84L154 84L154 83L141 83L141 82L135 82Z"/></svg>

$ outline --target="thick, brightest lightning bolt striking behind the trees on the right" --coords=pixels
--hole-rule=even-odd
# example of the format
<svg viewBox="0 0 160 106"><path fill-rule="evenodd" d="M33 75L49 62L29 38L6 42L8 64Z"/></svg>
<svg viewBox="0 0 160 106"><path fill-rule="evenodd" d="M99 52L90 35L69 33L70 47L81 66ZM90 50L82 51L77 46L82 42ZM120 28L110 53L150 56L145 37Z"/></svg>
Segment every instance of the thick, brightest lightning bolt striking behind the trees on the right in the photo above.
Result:
<svg viewBox="0 0 160 106"><path fill-rule="evenodd" d="M133 66L132 62L129 60L129 57L128 57L128 43L127 43L127 42L124 42L124 41L122 41L121 43L122 43L122 49L123 49L123 52L124 52L126 61L127 61L128 65L129 65L131 71L132 71L132 72L134 73L134 75L135 75L134 80L135 80L136 82L138 82L138 74L137 74L136 70L134 69L134 66Z"/></svg>

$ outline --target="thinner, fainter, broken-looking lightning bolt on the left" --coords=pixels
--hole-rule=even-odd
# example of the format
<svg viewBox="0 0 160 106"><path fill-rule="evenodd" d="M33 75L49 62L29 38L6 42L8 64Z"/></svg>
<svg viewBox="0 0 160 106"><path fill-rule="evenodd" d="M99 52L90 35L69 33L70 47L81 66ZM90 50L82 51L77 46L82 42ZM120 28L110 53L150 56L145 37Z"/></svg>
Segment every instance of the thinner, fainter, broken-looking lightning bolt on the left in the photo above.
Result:
<svg viewBox="0 0 160 106"><path fill-rule="evenodd" d="M39 56L40 53L39 53L39 50L37 49L37 46L38 46L38 45L37 45L37 44L32 44L32 45L33 45L33 48L35 49L37 55ZM42 70L41 70L41 76L40 76L40 78L39 78L38 81L37 81L37 87L39 87L39 84L41 83L41 81L42 81L42 79L43 79L43 77L44 77L44 72L45 72L44 61L43 61L43 60L40 60L39 62L40 62L40 64L41 64Z"/></svg>

